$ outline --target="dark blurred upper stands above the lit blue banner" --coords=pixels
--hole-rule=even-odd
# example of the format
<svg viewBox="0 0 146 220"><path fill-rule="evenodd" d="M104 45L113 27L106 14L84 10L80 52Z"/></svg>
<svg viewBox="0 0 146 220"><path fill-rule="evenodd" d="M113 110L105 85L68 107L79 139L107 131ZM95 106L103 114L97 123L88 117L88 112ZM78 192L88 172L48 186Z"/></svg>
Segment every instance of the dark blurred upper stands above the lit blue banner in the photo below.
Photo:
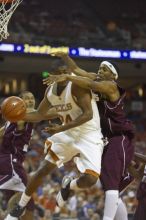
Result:
<svg viewBox="0 0 146 220"><path fill-rule="evenodd" d="M106 6L105 6L106 5ZM8 26L9 42L146 49L144 0L25 0Z"/></svg>

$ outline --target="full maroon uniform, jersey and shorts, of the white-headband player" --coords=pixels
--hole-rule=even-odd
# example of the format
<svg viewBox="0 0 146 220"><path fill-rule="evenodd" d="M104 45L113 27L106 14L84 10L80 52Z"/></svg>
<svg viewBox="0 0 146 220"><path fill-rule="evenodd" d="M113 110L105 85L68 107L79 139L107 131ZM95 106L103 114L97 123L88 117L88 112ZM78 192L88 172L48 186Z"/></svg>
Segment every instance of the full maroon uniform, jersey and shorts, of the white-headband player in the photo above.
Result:
<svg viewBox="0 0 146 220"><path fill-rule="evenodd" d="M120 98L116 102L101 99L97 102L101 118L101 129L108 138L104 149L101 166L101 183L103 189L121 190L126 184L123 178L133 157L133 124L127 120L124 112L125 90L118 87ZM124 185L123 185L124 184Z"/></svg>

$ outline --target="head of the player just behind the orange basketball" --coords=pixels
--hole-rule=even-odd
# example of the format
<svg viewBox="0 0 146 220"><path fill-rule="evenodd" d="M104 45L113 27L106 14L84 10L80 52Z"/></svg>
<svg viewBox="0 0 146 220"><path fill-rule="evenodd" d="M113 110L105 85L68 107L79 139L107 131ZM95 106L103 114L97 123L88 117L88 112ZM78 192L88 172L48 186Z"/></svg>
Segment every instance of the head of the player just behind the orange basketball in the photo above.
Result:
<svg viewBox="0 0 146 220"><path fill-rule="evenodd" d="M33 111L35 108L34 95L29 91L24 91L19 94L19 97L23 99L26 104L27 111Z"/></svg>

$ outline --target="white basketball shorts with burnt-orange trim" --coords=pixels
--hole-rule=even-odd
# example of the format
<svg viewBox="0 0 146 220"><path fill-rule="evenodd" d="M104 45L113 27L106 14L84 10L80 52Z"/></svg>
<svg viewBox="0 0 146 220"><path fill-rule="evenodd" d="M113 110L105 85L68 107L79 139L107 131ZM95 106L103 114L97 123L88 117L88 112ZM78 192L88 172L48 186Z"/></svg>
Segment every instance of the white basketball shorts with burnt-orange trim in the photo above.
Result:
<svg viewBox="0 0 146 220"><path fill-rule="evenodd" d="M45 159L56 163L58 167L74 157L74 162L81 173L98 176L101 172L104 144L97 131L81 133L70 129L60 132L48 138L45 147L49 148ZM77 154L79 156L76 156Z"/></svg>

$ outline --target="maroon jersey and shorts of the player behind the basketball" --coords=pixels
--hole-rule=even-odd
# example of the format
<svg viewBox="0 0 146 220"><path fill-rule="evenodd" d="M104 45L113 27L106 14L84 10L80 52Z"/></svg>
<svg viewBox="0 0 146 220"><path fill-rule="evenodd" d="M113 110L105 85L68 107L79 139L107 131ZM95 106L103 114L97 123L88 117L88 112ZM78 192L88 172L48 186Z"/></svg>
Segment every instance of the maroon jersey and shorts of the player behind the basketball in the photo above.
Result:
<svg viewBox="0 0 146 220"><path fill-rule="evenodd" d="M15 191L22 192L27 184L22 162L28 150L32 127L31 123L25 123L24 129L18 131L17 124L11 123L0 143L0 191L5 194L7 202ZM33 199L28 203L27 209L34 210Z"/></svg>

